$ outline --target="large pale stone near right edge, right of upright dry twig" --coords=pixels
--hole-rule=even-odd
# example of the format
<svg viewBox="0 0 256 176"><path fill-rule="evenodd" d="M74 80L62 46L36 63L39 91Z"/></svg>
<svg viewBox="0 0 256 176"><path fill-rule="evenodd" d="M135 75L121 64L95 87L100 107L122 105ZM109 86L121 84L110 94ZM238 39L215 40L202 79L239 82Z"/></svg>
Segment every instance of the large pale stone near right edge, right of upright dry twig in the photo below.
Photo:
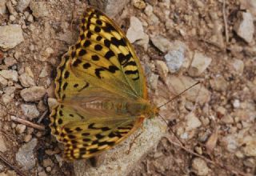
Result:
<svg viewBox="0 0 256 176"><path fill-rule="evenodd" d="M241 19L234 25L234 30L240 38L250 43L254 40L254 20L250 12L242 12Z"/></svg>

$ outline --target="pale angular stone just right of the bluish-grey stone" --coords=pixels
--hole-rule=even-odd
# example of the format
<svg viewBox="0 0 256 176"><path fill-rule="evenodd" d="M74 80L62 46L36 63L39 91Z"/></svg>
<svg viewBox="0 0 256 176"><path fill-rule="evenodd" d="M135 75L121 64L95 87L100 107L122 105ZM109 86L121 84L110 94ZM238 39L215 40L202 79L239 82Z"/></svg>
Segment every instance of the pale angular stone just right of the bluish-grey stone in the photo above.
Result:
<svg viewBox="0 0 256 176"><path fill-rule="evenodd" d="M188 73L193 77L199 76L208 66L210 66L211 60L211 58L196 51Z"/></svg>

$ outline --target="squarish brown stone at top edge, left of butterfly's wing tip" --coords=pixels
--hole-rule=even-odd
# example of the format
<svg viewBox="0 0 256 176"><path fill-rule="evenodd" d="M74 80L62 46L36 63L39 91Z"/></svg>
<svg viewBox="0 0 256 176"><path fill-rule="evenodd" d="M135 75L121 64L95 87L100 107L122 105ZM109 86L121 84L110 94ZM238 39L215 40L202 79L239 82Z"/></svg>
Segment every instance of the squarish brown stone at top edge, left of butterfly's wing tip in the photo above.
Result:
<svg viewBox="0 0 256 176"><path fill-rule="evenodd" d="M47 17L49 15L46 2L30 2L30 10L35 18Z"/></svg>

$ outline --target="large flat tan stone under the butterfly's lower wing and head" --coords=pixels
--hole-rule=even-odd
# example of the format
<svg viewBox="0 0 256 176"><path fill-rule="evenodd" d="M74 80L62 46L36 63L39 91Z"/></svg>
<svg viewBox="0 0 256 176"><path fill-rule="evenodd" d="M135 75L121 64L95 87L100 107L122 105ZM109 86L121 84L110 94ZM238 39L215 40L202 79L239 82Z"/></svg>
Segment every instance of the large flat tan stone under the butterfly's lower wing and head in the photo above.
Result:
<svg viewBox="0 0 256 176"><path fill-rule="evenodd" d="M137 131L130 138L127 138L125 142L114 146L112 150L106 151L106 158L101 166L88 166L85 161L74 162L75 175L128 175L132 168L140 162L140 159L157 146L158 141L162 138L165 131L166 124L160 118L146 120L143 130ZM142 134L138 136L139 133ZM134 141L136 136L138 138ZM130 154L127 154L131 142L134 142L134 144L130 150Z"/></svg>

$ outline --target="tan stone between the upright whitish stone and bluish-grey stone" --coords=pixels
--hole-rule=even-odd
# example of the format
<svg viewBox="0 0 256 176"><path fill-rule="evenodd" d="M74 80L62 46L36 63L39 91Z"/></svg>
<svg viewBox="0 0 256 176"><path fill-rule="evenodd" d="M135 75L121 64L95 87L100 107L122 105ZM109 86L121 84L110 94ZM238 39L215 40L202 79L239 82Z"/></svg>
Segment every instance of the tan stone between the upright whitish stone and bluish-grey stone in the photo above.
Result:
<svg viewBox="0 0 256 176"><path fill-rule="evenodd" d="M154 46L156 46L158 50L161 50L163 53L166 53L170 49L171 42L162 35L157 35L150 39Z"/></svg>

